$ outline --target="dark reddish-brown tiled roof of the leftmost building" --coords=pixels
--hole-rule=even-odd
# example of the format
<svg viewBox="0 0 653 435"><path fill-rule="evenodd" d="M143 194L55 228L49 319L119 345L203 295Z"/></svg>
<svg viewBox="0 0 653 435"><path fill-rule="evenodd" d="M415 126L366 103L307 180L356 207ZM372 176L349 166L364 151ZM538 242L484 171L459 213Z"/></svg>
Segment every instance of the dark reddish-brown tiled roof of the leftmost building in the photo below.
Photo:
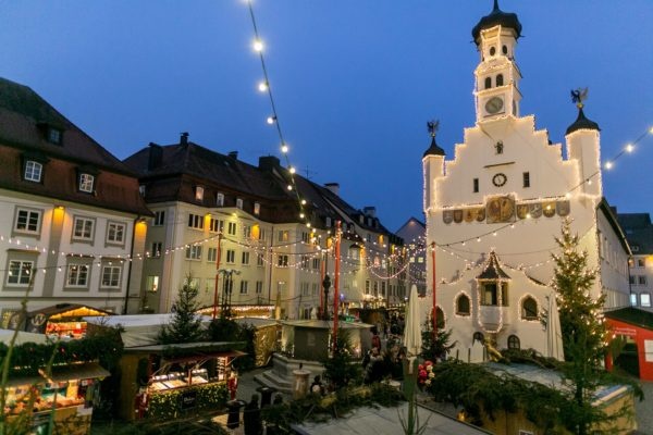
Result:
<svg viewBox="0 0 653 435"><path fill-rule="evenodd" d="M61 140L47 140L48 129ZM40 183L23 179L23 160L44 162ZM120 160L77 128L27 86L0 78L0 187L59 201L149 215L138 179ZM77 172L96 176L90 194L78 189Z"/></svg>

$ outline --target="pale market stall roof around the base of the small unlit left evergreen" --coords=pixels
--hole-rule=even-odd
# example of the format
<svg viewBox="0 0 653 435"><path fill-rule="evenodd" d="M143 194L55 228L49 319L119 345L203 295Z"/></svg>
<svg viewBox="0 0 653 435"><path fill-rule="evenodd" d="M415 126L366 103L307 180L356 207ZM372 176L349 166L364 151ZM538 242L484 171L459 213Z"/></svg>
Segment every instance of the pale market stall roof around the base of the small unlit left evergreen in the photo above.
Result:
<svg viewBox="0 0 653 435"><path fill-rule="evenodd" d="M174 313L165 314L133 314L112 315L108 318L93 316L84 318L88 324L97 326L120 327L120 336L125 348L149 346L158 344L158 335L161 327L172 322ZM207 326L211 318L201 315L201 323Z"/></svg>

